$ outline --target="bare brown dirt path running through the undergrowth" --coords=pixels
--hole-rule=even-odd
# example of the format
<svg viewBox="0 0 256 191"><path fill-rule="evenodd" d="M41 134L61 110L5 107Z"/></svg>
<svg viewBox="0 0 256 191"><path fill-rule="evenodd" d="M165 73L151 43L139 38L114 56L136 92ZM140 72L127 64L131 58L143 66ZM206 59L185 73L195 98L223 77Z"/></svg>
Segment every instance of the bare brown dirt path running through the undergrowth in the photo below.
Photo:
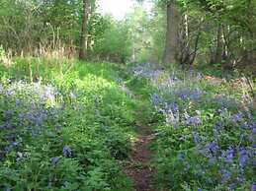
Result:
<svg viewBox="0 0 256 191"><path fill-rule="evenodd" d="M155 170L151 168L152 153L149 149L153 139L148 126L137 127L138 140L130 154L131 161L125 167L125 173L133 180L134 190L153 191L152 180Z"/></svg>

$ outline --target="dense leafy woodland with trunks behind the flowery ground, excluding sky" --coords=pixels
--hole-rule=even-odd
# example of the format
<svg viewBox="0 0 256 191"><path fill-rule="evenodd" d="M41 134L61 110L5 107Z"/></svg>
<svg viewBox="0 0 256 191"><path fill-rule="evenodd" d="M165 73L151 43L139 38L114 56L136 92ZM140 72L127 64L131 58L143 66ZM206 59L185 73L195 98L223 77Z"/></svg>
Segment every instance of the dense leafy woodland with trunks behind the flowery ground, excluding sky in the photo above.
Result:
<svg viewBox="0 0 256 191"><path fill-rule="evenodd" d="M255 69L255 1L153 2L116 21L95 0L2 0L0 44L10 55Z"/></svg>

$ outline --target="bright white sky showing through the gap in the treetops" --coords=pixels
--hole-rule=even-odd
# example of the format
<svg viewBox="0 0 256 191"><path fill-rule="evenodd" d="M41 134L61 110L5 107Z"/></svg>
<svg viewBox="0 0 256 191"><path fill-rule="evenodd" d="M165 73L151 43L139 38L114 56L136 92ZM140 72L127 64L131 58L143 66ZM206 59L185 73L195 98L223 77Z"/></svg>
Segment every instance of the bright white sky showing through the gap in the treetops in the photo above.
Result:
<svg viewBox="0 0 256 191"><path fill-rule="evenodd" d="M116 19L122 19L131 10L132 6L135 5L134 0L100 0L99 10L104 14L111 14ZM152 4L145 2L144 7L148 11Z"/></svg>

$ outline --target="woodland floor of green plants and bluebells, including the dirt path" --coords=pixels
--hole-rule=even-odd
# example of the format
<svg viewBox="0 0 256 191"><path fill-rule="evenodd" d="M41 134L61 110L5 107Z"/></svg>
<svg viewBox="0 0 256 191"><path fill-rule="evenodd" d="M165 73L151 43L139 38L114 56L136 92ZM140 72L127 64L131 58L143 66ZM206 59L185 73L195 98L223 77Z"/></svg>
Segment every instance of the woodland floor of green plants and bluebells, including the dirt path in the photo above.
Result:
<svg viewBox="0 0 256 191"><path fill-rule="evenodd" d="M246 79L59 63L0 64L0 190L255 190Z"/></svg>

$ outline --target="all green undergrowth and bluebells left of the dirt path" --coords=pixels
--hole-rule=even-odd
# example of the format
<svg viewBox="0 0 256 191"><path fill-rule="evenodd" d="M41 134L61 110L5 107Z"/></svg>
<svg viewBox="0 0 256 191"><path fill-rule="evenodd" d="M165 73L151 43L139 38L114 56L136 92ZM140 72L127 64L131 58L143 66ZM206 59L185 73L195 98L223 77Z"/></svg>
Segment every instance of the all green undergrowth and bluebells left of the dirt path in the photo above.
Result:
<svg viewBox="0 0 256 191"><path fill-rule="evenodd" d="M130 190L116 159L130 151L134 100L112 64L16 62L1 69L0 188Z"/></svg>

